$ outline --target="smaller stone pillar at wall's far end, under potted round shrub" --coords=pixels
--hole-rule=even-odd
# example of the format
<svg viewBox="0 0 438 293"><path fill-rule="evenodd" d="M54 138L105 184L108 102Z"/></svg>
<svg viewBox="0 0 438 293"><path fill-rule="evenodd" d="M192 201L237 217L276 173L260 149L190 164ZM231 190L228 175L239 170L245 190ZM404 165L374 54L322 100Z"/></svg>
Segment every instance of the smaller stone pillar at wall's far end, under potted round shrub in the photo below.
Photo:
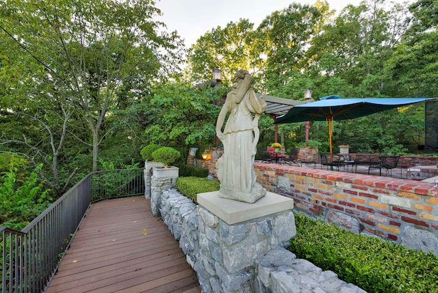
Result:
<svg viewBox="0 0 438 293"><path fill-rule="evenodd" d="M170 166L168 168L152 168L151 174L151 210L153 216L159 214L159 198L164 190L174 188L179 176L179 168Z"/></svg>

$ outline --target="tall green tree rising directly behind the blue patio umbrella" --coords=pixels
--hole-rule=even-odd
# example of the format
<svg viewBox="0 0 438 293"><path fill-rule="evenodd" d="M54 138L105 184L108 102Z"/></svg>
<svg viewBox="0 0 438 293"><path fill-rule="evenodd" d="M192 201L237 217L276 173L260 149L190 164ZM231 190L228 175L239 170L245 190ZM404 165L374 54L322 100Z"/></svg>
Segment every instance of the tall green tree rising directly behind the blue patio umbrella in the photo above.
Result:
<svg viewBox="0 0 438 293"><path fill-rule="evenodd" d="M406 5L388 4L386 0L365 0L358 6L348 5L314 38L312 75L320 79L324 95L385 94L385 62L400 42L406 13Z"/></svg>

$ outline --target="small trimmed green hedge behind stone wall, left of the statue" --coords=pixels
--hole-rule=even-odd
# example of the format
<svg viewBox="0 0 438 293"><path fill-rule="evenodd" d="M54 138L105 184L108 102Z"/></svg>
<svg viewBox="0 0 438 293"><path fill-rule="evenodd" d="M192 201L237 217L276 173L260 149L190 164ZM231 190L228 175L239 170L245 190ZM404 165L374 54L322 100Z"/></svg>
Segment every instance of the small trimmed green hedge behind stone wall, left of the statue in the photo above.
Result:
<svg viewBox="0 0 438 293"><path fill-rule="evenodd" d="M196 194L219 190L219 182L207 178L179 177L176 188L196 203Z"/></svg>

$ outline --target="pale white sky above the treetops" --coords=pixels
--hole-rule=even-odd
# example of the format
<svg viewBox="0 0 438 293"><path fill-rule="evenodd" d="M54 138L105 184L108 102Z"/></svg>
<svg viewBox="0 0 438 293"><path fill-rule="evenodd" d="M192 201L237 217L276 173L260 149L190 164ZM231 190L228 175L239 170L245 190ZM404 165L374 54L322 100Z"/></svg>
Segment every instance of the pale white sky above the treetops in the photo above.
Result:
<svg viewBox="0 0 438 293"><path fill-rule="evenodd" d="M168 31L178 31L190 47L196 40L218 26L237 23L248 18L256 29L266 16L276 10L283 10L291 3L313 5L316 0L157 0L156 7L162 10L163 21ZM348 4L358 5L359 0L328 0L331 10L339 12Z"/></svg>

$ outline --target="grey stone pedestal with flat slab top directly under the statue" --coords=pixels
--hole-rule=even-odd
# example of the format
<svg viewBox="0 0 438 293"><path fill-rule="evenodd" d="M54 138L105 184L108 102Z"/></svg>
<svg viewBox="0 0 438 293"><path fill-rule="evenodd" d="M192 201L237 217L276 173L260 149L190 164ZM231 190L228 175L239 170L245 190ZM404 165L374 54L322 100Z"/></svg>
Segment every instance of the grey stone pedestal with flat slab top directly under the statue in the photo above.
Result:
<svg viewBox="0 0 438 293"><path fill-rule="evenodd" d="M296 234L294 201L267 192L256 203L198 194L199 244L194 269L205 292L252 292L257 261Z"/></svg>

